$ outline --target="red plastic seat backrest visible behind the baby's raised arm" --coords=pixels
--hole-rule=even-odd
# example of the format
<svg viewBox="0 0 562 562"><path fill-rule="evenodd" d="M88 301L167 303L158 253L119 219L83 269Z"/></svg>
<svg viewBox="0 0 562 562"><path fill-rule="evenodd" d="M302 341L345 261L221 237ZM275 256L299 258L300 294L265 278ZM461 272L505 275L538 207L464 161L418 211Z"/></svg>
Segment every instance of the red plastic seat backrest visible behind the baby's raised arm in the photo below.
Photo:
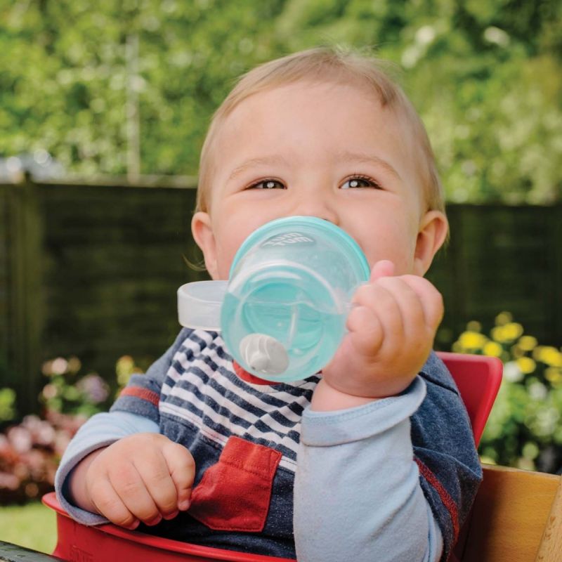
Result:
<svg viewBox="0 0 562 562"><path fill-rule="evenodd" d="M469 412L476 445L480 443L486 420L502 384L503 364L497 357L465 355L440 351L439 358L455 379Z"/></svg>

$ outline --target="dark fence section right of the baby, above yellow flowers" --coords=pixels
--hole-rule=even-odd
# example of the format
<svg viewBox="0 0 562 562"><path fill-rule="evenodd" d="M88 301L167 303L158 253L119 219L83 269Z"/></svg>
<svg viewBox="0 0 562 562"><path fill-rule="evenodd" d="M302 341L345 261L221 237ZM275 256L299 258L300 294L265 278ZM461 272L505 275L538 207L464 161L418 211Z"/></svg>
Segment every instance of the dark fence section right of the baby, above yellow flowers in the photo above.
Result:
<svg viewBox="0 0 562 562"><path fill-rule="evenodd" d="M451 240L429 277L443 292L446 347L468 320L509 311L541 343L562 344L562 207L451 205Z"/></svg>

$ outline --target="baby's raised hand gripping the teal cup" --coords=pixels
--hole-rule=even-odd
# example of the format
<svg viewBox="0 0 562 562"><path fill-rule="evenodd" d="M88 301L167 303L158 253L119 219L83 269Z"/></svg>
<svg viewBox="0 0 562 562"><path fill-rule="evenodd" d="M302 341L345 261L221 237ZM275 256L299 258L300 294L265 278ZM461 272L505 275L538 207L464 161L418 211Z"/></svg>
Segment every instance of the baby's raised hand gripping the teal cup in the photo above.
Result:
<svg viewBox="0 0 562 562"><path fill-rule="evenodd" d="M355 292L349 332L322 370L322 385L336 394L367 399L396 395L410 385L431 352L443 299L424 277L395 277L393 271L390 261L375 263L370 281ZM325 390L321 387L318 397L315 391L313 407ZM353 401L344 398L341 407L349 405Z"/></svg>

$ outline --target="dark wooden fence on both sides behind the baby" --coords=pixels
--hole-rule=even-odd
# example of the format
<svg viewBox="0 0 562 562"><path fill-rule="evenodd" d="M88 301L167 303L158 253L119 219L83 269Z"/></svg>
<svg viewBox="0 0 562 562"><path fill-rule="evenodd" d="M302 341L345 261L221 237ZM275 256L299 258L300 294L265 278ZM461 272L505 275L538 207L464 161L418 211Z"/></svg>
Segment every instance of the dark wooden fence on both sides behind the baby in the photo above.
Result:
<svg viewBox="0 0 562 562"><path fill-rule="evenodd" d="M176 289L204 277L190 235L195 190L0 185L0 388L37 410L41 363L76 355L115 380L115 362L157 358L178 331ZM562 344L562 207L451 205L452 237L429 277L445 298L438 347L468 320L510 311Z"/></svg>

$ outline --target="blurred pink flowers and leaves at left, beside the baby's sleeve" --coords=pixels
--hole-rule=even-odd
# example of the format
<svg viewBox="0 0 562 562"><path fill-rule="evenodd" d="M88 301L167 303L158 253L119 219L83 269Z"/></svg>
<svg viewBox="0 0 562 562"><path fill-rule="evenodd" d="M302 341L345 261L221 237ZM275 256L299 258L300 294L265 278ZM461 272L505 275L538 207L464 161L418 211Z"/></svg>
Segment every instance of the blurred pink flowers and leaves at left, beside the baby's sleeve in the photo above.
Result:
<svg viewBox="0 0 562 562"><path fill-rule="evenodd" d="M42 371L48 382L39 395L41 417L26 416L0 432L0 504L27 502L53 490L55 471L72 436L115 398L98 374L81 375L80 368L76 357L46 361ZM142 372L133 358L119 358L117 386L125 386L133 372ZM0 421L13 419L15 393L9 390L0 390ZM9 417L1 417L2 412Z"/></svg>

